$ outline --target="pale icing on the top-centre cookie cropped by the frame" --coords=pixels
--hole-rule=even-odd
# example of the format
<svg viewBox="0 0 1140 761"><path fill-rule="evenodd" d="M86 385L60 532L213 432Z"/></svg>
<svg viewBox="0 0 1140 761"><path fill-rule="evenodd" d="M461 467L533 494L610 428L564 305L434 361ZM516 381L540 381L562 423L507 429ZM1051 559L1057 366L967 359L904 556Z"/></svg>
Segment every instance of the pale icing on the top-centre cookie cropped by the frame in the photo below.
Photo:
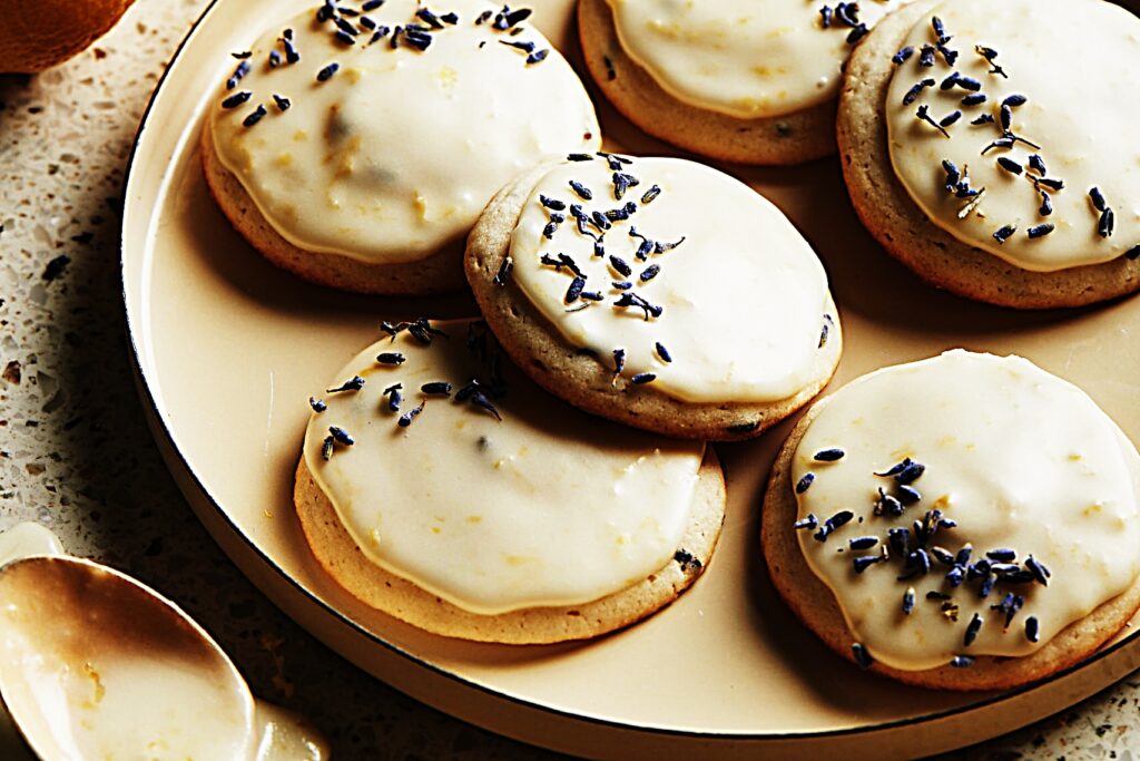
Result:
<svg viewBox="0 0 1140 761"><path fill-rule="evenodd" d="M606 0L621 48L669 95L740 119L833 99L852 27L823 27L815 0ZM858 3L873 26L909 0ZM830 5L830 3L829 3Z"/></svg>

